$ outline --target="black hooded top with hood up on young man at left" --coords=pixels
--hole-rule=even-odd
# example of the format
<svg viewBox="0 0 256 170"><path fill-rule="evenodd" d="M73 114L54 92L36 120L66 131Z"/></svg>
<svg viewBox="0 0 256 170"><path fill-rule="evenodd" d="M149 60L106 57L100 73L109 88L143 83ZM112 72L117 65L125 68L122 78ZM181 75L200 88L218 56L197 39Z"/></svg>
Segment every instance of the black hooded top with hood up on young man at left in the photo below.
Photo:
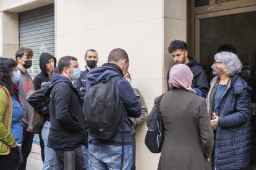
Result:
<svg viewBox="0 0 256 170"><path fill-rule="evenodd" d="M53 59L54 60L54 67L56 67L56 58L53 57L53 55L48 54L46 52L43 52L40 55L40 59L39 59L39 65L40 65L40 69L41 69L41 73L39 73L38 75L35 76L34 78L34 86L35 86L35 91L38 89L41 89L41 84L43 82L48 82L49 81L49 75L46 71L45 68L45 64L49 59Z"/></svg>

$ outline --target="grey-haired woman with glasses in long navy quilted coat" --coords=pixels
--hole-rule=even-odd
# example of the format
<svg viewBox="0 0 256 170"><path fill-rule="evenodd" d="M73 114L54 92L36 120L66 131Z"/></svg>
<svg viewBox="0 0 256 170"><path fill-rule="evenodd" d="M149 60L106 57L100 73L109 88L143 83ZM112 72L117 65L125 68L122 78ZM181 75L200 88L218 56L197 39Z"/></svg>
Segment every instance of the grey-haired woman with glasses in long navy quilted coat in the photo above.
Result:
<svg viewBox="0 0 256 170"><path fill-rule="evenodd" d="M215 132L213 169L242 169L250 164L252 89L239 76L242 63L232 52L219 52L211 65L207 108Z"/></svg>

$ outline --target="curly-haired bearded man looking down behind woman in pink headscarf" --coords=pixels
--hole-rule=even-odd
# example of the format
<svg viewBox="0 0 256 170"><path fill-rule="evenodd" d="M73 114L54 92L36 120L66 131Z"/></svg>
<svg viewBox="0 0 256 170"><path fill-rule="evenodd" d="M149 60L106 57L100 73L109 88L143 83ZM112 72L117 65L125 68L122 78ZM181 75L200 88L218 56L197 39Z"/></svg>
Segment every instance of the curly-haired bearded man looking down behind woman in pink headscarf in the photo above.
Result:
<svg viewBox="0 0 256 170"><path fill-rule="evenodd" d="M207 76L205 75L205 71L203 71L203 68L199 65L197 60L195 60L194 57L188 55L186 42L181 40L172 41L168 47L168 52L173 57L175 64L186 64L192 71L194 76L192 81L192 88L194 89L195 93L201 95L202 97L207 97L209 91ZM169 71L166 77L167 84L169 81ZM169 86L168 91L170 91Z"/></svg>

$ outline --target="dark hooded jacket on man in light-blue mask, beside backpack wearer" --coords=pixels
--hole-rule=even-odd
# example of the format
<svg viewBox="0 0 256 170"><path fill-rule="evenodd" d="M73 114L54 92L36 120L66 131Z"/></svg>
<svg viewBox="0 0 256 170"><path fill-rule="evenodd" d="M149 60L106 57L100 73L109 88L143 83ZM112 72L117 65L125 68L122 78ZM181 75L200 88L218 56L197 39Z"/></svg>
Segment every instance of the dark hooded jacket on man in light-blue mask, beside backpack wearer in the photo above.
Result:
<svg viewBox="0 0 256 170"><path fill-rule="evenodd" d="M71 81L64 76L54 75L46 95L49 93L51 129L48 147L61 149L86 145L82 101Z"/></svg>

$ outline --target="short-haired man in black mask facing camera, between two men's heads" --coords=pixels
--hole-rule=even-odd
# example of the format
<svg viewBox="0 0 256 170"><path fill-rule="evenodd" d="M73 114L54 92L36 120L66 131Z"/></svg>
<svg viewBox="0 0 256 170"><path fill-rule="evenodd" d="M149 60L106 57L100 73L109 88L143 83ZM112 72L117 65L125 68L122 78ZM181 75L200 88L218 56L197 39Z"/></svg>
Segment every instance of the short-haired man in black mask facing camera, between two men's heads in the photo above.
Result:
<svg viewBox="0 0 256 170"><path fill-rule="evenodd" d="M94 49L89 49L85 52L85 70L81 71L81 75L78 79L75 79L73 84L75 89L79 92L81 99L85 96L85 84L86 84L86 76L87 73L92 70L92 68L97 67L98 62L98 53Z"/></svg>

